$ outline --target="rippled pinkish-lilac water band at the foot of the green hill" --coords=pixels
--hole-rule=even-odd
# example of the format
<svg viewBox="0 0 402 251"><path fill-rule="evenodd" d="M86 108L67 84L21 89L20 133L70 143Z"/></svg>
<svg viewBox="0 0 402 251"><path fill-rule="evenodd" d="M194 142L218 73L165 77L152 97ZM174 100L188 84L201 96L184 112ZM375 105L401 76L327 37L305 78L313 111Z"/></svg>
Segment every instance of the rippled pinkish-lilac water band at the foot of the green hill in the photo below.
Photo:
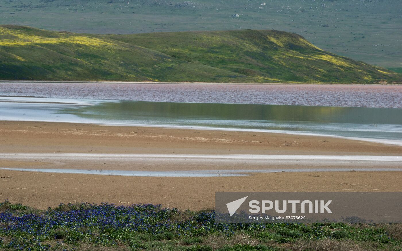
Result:
<svg viewBox="0 0 402 251"><path fill-rule="evenodd" d="M0 95L150 102L402 108L402 86L0 82Z"/></svg>

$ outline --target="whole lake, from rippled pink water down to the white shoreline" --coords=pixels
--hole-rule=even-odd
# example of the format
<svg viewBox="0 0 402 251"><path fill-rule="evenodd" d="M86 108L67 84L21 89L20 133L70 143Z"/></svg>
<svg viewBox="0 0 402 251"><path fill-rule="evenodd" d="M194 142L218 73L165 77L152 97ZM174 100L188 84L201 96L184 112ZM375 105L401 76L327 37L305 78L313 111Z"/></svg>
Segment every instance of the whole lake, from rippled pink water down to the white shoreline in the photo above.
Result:
<svg viewBox="0 0 402 251"><path fill-rule="evenodd" d="M0 82L0 120L332 135L402 145L402 86Z"/></svg>

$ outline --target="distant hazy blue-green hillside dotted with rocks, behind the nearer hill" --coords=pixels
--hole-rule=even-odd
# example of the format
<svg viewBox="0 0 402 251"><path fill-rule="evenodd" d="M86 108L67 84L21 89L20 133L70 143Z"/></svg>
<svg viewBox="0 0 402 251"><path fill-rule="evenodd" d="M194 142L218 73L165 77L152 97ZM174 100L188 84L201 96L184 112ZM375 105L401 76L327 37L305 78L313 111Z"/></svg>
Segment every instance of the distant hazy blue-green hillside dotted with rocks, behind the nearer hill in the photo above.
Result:
<svg viewBox="0 0 402 251"><path fill-rule="evenodd" d="M400 0L0 1L2 24L93 34L275 29L384 67L402 67L400 12Z"/></svg>

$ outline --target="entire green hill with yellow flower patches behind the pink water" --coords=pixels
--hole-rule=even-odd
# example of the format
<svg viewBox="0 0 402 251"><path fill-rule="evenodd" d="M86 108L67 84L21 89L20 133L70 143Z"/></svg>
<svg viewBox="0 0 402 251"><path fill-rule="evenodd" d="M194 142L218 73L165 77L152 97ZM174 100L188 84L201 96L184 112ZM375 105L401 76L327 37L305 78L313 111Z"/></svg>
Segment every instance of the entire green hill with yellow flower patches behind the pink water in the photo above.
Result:
<svg viewBox="0 0 402 251"><path fill-rule="evenodd" d="M0 26L0 79L166 82L400 82L281 31L88 35Z"/></svg>

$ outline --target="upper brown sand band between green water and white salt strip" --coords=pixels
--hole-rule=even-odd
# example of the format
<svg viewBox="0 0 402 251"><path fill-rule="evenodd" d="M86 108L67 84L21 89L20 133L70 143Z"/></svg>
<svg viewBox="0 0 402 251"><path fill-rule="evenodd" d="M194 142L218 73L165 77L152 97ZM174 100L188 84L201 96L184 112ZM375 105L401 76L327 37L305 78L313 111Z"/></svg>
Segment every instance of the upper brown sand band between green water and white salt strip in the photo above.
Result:
<svg viewBox="0 0 402 251"><path fill-rule="evenodd" d="M88 151L66 151L68 145L105 148L97 141L109 146L127 147L125 151L109 149L93 153L176 153L176 154L292 154L320 155L392 155L400 154L399 145L386 145L368 141L343 139L328 135L299 135L266 131L202 130L199 128L164 128L158 126L110 126L90 123L0 121L0 138L3 139L0 152L43 153L33 146L42 148L52 145L61 152L87 153ZM90 144L90 143L95 144ZM174 142L175 147L172 146ZM13 151L19 145L19 151ZM12 147L14 146L14 147ZM164 149L176 149L166 151ZM70 148L70 147L67 147ZM106 147L107 148L107 147ZM132 151L142 149L142 151ZM213 151L213 149L220 151ZM29 151L21 151L31 149ZM50 148L53 149L54 148ZM161 149L159 151L150 149ZM193 149L193 150L192 150ZM203 151L198 152L198 150ZM209 150L208 150L209 149ZM212 150L212 151L211 151ZM224 150L224 151L222 151ZM311 150L311 151L310 151ZM54 151L50 151L54 152ZM339 153L339 154L334 154ZM363 153L363 154L362 154Z"/></svg>

